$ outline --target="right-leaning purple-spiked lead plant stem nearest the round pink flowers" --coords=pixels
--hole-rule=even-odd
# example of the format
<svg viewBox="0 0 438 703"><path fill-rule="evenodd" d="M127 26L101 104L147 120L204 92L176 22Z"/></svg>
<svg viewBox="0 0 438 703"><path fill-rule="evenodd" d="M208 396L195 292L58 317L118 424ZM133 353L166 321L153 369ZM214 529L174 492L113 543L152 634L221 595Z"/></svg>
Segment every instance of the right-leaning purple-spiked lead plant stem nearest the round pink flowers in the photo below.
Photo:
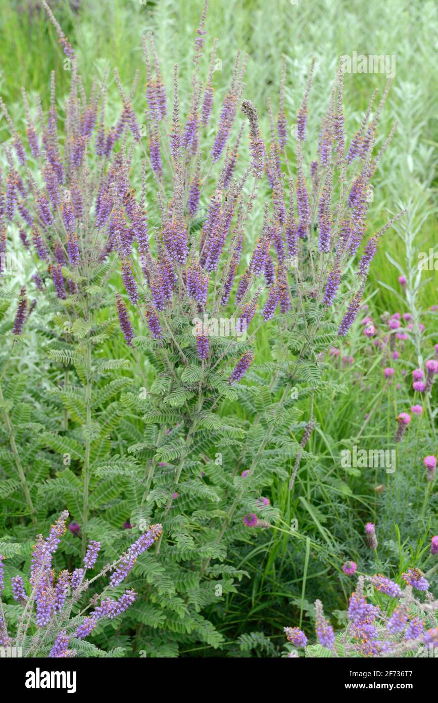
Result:
<svg viewBox="0 0 438 703"><path fill-rule="evenodd" d="M385 232L402 212L392 217L377 233L366 237L371 177L387 143L376 153L378 119L383 109L388 83L373 119L369 122L373 98L359 132L348 146L343 117L343 70L340 66L323 117L319 141L305 159L307 110L314 65L298 110L295 133L295 159L287 143L284 112L286 70L281 79L279 113L275 124L270 101L270 146L265 148L265 174L270 183L272 203L265 214L266 228L261 240L256 273L264 273L270 292L262 309L272 319L274 342L270 361L253 365L248 373L252 387L240 386L239 402L252 413L242 452L234 451L234 475L244 470L245 481L233 486L227 501L225 520L215 543L227 540L227 527L236 512L248 505L251 494L263 491L274 475L296 482L300 460L312 460L305 446L315 427L314 398L319 392L346 392L346 387L324 380L324 359L339 337L349 332L361 305L372 259ZM246 110L251 124L251 111ZM251 143L258 138L251 131ZM253 152L254 153L254 152ZM347 271L355 270L345 292ZM272 272L275 271L275 277ZM251 276L251 266L242 280ZM269 385L263 374L270 376ZM255 397L263 394L263 404ZM297 397L310 399L310 417L300 421L294 407ZM302 430L301 439L296 434ZM289 477L284 469L293 459ZM228 537L232 540L232 536ZM203 569L209 560L204 562Z"/></svg>

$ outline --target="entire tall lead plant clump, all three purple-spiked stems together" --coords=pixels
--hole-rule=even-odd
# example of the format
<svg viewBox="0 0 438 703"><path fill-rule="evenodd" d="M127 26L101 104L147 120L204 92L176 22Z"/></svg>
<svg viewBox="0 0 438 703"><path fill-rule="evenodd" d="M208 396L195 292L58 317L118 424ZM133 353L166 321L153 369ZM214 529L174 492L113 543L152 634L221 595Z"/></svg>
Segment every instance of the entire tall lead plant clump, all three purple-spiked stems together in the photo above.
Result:
<svg viewBox="0 0 438 703"><path fill-rule="evenodd" d="M32 241L36 285L51 307L56 302L49 355L65 368L53 389L58 427L29 425L41 446L68 459L39 496L65 501L81 523L83 554L87 533L102 540L124 522L127 529L164 525L166 540L157 539L155 558L138 569L141 593L131 609L136 643L153 656L175 656L179 641L223 642L201 612L215 609L218 586L223 595L233 593L244 575L225 561L230 543L277 519L269 501L260 504L263 490L276 476L292 489L300 460L311 458L305 447L315 426L313 399L328 387L319 354L353 323L383 235L366 245L347 299L341 278L364 238L369 181L380 159L373 156L380 108L345 155L338 72L309 167L303 142L310 79L293 162L286 73L277 128L272 115L265 140L256 106L243 100L246 57L237 56L220 105L213 95L216 41L201 78L205 22L206 6L187 101L180 101L178 66L168 101L153 37L143 39L146 136L131 102L138 75L130 93L115 72L121 116L108 127L106 78L85 95L74 51L56 23L72 68L65 141L58 140L54 85L47 120L36 105L37 124L24 96L32 158L6 117L15 149L13 157L7 148L8 217L16 207L25 222L22 241ZM249 157L240 146L246 129ZM138 193L131 173L137 182L141 176ZM251 212L265 176L272 202L251 249ZM110 290L117 268L129 303ZM204 327L204 315L212 327ZM246 339L216 335L214 321L222 317L252 324ZM100 348L117 318L126 352L106 359ZM267 321L274 361L254 366L254 337ZM134 380L110 380L131 355ZM304 422L295 387L300 399L310 399ZM236 400L250 422L221 417L222 404ZM62 635L58 647L64 646Z"/></svg>

